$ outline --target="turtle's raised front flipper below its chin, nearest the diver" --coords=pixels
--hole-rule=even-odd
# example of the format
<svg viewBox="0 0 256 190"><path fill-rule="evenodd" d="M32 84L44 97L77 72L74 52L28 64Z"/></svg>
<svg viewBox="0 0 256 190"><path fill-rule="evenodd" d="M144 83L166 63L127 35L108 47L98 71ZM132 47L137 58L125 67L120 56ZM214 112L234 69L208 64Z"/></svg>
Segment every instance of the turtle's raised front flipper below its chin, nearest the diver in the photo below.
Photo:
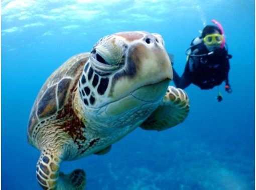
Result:
<svg viewBox="0 0 256 190"><path fill-rule="evenodd" d="M189 112L189 98L180 88L168 86L161 105L141 124L146 130L164 130L181 123Z"/></svg>

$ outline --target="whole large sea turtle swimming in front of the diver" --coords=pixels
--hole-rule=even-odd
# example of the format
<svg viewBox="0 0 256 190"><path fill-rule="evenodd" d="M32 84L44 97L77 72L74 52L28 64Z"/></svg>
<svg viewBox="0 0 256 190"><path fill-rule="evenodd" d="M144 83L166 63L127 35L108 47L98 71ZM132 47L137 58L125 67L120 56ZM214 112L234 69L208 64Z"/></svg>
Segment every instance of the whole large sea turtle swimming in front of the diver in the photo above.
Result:
<svg viewBox="0 0 256 190"><path fill-rule="evenodd" d="M64 160L104 154L137 126L163 130L182 122L187 94L169 86L172 65L160 34L126 31L101 38L68 59L41 88L28 124L40 149L43 189L84 189L85 172L59 170Z"/></svg>

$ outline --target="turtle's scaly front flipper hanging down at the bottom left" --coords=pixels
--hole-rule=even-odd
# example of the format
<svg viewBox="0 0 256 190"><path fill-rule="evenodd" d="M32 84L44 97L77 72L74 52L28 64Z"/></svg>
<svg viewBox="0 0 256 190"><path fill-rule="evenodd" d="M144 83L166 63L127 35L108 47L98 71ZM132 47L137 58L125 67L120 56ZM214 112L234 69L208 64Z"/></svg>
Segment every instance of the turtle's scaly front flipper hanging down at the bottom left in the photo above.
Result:
<svg viewBox="0 0 256 190"><path fill-rule="evenodd" d="M61 172L60 156L52 152L41 151L37 163L37 180L47 190L83 190L86 177L82 169L75 169L69 174Z"/></svg>

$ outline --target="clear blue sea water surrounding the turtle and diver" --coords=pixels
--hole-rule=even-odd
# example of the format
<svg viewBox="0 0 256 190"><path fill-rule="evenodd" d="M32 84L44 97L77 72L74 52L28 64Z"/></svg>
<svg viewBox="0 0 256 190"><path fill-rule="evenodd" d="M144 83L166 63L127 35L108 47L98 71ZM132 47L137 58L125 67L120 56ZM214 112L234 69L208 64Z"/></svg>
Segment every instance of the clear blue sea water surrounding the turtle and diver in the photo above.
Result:
<svg viewBox="0 0 256 190"><path fill-rule="evenodd" d="M39 150L27 122L46 78L74 54L118 31L160 33L182 74L185 49L215 18L224 27L233 93L186 91L191 109L174 128L136 129L103 156L62 164L83 168L87 189L254 189L254 0L2 0L2 189L40 189ZM173 83L171 83L173 85Z"/></svg>

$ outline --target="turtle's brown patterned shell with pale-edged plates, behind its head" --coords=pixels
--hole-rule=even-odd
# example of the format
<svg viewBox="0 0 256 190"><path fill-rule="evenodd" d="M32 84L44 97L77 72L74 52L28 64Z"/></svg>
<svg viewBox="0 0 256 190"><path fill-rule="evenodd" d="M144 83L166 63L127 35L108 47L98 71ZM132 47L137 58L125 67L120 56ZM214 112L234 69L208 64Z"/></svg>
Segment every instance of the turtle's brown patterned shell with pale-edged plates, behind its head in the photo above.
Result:
<svg viewBox="0 0 256 190"><path fill-rule="evenodd" d="M61 110L67 99L76 90L85 62L89 53L77 54L68 59L55 70L46 80L32 107L28 123L28 141L32 143L32 132L43 119L51 119Z"/></svg>

